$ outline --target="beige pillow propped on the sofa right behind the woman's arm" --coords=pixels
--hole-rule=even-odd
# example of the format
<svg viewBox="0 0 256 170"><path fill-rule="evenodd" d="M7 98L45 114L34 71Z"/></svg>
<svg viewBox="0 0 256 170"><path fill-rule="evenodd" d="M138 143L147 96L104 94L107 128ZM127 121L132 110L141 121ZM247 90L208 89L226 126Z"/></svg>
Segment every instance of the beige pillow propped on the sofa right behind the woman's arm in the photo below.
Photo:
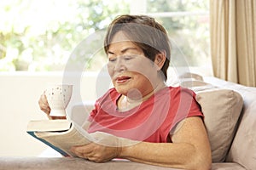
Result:
<svg viewBox="0 0 256 170"><path fill-rule="evenodd" d="M212 162L224 161L236 133L241 113L241 95L230 89L201 92L195 99L201 105L212 150Z"/></svg>

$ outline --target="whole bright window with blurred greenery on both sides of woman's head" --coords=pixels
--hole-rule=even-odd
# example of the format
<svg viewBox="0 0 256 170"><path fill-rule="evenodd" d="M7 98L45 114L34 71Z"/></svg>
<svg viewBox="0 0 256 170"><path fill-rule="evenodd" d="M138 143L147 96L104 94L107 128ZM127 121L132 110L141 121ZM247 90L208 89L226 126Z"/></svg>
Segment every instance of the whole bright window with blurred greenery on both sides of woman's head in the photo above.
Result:
<svg viewBox="0 0 256 170"><path fill-rule="evenodd" d="M119 14L148 14L166 27L191 67L210 67L207 0L3 0L0 71L63 71L73 49ZM143 11L141 11L143 8ZM172 53L172 65L186 66ZM89 65L97 71L104 53ZM177 57L173 57L177 56ZM98 65L98 66L96 66Z"/></svg>

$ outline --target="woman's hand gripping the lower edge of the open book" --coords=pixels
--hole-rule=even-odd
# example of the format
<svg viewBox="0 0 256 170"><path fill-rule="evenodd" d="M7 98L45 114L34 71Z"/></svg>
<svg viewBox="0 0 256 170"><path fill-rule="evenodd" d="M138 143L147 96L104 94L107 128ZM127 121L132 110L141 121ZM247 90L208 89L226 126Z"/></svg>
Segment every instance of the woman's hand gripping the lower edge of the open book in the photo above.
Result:
<svg viewBox="0 0 256 170"><path fill-rule="evenodd" d="M121 147L105 146L102 144L90 143L82 146L73 146L71 151L84 159L95 162L106 162L119 157Z"/></svg>

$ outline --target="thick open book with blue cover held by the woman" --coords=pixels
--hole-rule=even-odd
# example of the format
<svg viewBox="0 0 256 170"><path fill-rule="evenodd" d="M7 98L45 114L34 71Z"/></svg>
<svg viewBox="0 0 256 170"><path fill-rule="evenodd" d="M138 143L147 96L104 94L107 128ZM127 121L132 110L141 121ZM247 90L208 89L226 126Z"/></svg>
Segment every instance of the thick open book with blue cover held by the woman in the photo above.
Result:
<svg viewBox="0 0 256 170"><path fill-rule="evenodd" d="M117 147L138 142L119 138L109 133L87 133L76 123L62 119L30 121L26 132L49 145L62 156L75 156L70 151L72 146L89 144L90 142Z"/></svg>

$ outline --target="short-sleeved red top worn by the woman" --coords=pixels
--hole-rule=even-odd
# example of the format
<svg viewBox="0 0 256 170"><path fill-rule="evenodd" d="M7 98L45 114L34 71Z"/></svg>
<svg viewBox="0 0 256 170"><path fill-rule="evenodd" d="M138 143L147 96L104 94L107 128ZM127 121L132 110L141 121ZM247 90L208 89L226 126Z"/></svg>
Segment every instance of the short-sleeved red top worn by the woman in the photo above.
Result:
<svg viewBox="0 0 256 170"><path fill-rule="evenodd" d="M111 88L96 100L89 116L89 133L101 131L126 139L166 143L177 122L189 116L203 117L195 93L187 88L163 88L130 111L118 111L120 96Z"/></svg>

